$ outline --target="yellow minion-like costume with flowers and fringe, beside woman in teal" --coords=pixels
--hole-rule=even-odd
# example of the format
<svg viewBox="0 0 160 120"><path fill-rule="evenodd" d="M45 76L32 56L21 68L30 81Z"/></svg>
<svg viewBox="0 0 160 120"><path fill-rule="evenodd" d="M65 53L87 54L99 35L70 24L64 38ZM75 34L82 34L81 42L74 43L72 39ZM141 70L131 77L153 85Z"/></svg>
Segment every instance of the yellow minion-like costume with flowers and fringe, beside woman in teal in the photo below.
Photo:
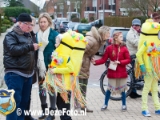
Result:
<svg viewBox="0 0 160 120"><path fill-rule="evenodd" d="M65 102L68 102L67 91L71 91L73 97L76 97L81 104L85 104L76 78L86 43L82 34L68 31L62 34L60 45L52 53L52 62L49 65L50 69L47 72L44 86L50 94L59 92ZM55 74L52 75L50 70Z"/></svg>

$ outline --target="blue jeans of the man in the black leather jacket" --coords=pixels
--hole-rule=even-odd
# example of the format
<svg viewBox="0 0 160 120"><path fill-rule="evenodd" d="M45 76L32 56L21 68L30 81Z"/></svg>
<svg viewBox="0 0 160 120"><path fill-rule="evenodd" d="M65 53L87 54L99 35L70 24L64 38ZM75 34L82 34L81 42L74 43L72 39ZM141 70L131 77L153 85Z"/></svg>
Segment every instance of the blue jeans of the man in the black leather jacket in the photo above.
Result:
<svg viewBox="0 0 160 120"><path fill-rule="evenodd" d="M15 91L14 99L16 102L15 111L7 115L6 120L24 120L24 110L27 107L31 93L32 77L26 78L9 72L5 74L4 80L8 89L13 89ZM22 110L20 116L17 115L17 108Z"/></svg>

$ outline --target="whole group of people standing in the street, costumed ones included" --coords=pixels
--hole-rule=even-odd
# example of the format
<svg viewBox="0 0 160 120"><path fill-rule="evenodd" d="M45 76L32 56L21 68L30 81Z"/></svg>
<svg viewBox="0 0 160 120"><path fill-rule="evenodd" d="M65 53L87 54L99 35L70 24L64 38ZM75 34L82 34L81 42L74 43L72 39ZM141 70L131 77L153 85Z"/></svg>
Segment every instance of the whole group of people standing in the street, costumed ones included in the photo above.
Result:
<svg viewBox="0 0 160 120"><path fill-rule="evenodd" d="M74 94L72 93L73 88L71 85L72 81L74 81L73 78L75 78L76 81L79 80L79 94L82 93L82 97L84 97L86 101L91 63L93 65L100 65L104 64L108 59L110 59L107 72L108 88L101 110L104 111L108 108L111 94L121 94L121 109L122 111L126 111L125 91L127 90L128 77L126 65L131 62L130 55L137 56L134 65L139 66L139 68L137 67L135 74L140 69L141 72L139 73L141 74L139 74L138 77L144 76L142 115L147 117L151 116L147 107L147 95L150 90L154 101L155 114L160 115L160 103L157 94L157 78L159 78L159 75L156 72L158 68L153 69L151 65L154 61L152 57L158 59L159 55L154 54L154 56L152 56L152 50L148 52L148 49L151 49L151 47L154 47L154 51L158 50L156 46L160 44L157 37L158 30L160 30L160 14L153 13L152 19L147 20L143 25L141 25L139 19L134 19L126 36L126 43L123 41L122 32L115 32L113 34L112 44L107 46L104 55L98 60L95 60L94 55L101 45L106 43L106 40L110 37L110 28L108 26L101 26L98 29L92 27L91 31L84 37L73 31L59 34L54 30L52 19L48 13L40 14L38 21L39 31L37 33L33 32L36 24L34 17L27 13L21 13L17 21L18 24L14 26L11 32L6 34L3 41L4 79L8 89L15 91L14 99L16 102L16 109L6 116L6 120L35 120L31 115L25 116L24 112L18 116L16 110L18 108L22 111L30 109L32 84L37 80L39 83L39 98L43 111L43 114L39 117L40 120L55 119L54 114L49 114L48 116L44 114L45 109L48 107L50 111L55 111L56 107L58 110L62 110L62 108L66 108L67 110L71 109L70 99L71 95ZM151 36L154 39L152 39ZM72 41L73 43L67 43L71 40L76 42ZM77 41L80 41L80 44L78 44ZM62 49L59 50L59 48ZM55 54L54 51L59 53ZM54 55L61 55L61 58L54 59L53 61L53 53ZM77 57L78 55L79 57ZM62 58L64 59L62 60ZM56 66L62 63L64 66L59 68ZM78 67L79 65L81 66ZM160 63L156 65L159 66ZM74 73L74 71L77 73ZM67 92L67 100L69 102L65 102L60 90L57 91L51 83L47 83L49 77L46 76L48 74L54 79L61 78L62 81L64 80L64 82L60 84L66 87L58 89L66 90L64 91ZM62 78L60 76L64 77ZM48 85L48 89L44 88L44 83ZM50 106L47 104L47 90L49 90ZM137 94L136 89L132 89L130 97L139 98L141 95ZM79 107L81 110L93 112L93 110L89 109L87 103L81 104L79 98L75 98L74 100L75 109ZM61 115L60 119L72 120L71 116L67 114Z"/></svg>

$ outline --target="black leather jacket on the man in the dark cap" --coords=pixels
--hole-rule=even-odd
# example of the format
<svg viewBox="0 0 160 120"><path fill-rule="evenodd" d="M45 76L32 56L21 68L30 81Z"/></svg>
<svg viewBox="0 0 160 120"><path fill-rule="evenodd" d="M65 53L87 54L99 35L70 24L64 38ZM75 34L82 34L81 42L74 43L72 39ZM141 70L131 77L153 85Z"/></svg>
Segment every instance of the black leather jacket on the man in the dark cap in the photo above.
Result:
<svg viewBox="0 0 160 120"><path fill-rule="evenodd" d="M9 32L3 41L3 64L5 71L20 71L31 74L34 69L34 46L30 34L18 26Z"/></svg>

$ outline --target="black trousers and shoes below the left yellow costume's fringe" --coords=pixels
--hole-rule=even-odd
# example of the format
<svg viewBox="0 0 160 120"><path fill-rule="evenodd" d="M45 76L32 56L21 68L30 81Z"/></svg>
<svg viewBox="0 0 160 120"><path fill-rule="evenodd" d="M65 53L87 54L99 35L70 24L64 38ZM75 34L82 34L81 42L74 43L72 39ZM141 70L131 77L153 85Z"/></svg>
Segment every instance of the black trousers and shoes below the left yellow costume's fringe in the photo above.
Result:
<svg viewBox="0 0 160 120"><path fill-rule="evenodd" d="M68 98L70 102L71 92L68 92ZM59 93L57 94L57 107L58 107L58 110L61 110L61 111L63 111L64 108L66 108L66 111L70 110L70 103L65 103ZM66 113L64 115L61 115L60 118L61 120L72 120L72 118L68 116Z"/></svg>

